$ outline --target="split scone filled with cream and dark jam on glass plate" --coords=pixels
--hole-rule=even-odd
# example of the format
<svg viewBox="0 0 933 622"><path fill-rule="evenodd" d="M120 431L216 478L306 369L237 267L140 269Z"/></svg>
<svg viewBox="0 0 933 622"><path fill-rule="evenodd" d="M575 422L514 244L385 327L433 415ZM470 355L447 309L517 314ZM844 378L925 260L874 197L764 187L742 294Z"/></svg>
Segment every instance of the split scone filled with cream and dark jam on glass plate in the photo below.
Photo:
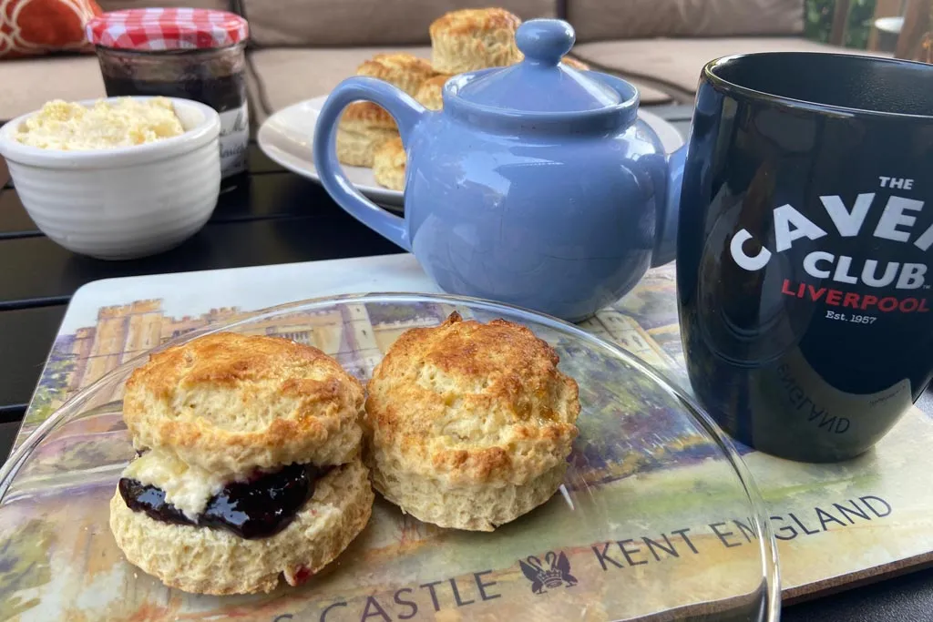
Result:
<svg viewBox="0 0 933 622"><path fill-rule="evenodd" d="M218 333L153 354L126 383L138 457L110 501L127 560L203 594L298 585L372 509L360 383L319 350Z"/></svg>

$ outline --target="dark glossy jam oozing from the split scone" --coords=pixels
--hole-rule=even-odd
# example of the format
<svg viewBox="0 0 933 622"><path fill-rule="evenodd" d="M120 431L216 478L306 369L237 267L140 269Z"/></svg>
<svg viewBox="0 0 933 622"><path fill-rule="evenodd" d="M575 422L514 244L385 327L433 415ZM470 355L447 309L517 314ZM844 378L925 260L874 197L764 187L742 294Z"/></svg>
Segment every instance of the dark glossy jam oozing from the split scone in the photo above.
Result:
<svg viewBox="0 0 933 622"><path fill-rule="evenodd" d="M314 483L327 469L313 464L290 464L274 473L261 473L247 481L232 482L210 498L207 507L191 520L165 502L165 492L150 484L122 477L119 493L127 507L149 518L179 525L215 527L241 538L268 538L281 532L314 494Z"/></svg>

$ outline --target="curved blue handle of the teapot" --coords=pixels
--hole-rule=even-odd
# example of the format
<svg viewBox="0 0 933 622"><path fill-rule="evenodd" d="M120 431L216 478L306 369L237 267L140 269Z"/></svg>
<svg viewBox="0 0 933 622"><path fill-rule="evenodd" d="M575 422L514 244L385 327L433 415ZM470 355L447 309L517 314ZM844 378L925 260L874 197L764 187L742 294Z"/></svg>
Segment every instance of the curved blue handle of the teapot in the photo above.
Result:
<svg viewBox="0 0 933 622"><path fill-rule="evenodd" d="M331 91L321 108L314 128L314 167L331 198L356 220L384 238L411 252L411 240L405 219L389 214L366 199L350 183L337 159L337 124L343 108L367 100L383 106L398 124L402 144L408 145L411 131L425 115L425 107L388 82L373 77L350 77Z"/></svg>

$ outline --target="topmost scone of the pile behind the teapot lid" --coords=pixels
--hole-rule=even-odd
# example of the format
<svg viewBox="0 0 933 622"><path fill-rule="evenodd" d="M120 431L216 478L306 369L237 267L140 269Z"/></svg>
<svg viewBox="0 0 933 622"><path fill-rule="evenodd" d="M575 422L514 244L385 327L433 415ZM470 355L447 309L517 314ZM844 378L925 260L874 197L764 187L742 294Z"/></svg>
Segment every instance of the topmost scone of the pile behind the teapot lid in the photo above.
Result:
<svg viewBox="0 0 933 622"><path fill-rule="evenodd" d="M431 64L440 74L505 67L521 58L515 31L522 20L504 8L465 8L431 24Z"/></svg>

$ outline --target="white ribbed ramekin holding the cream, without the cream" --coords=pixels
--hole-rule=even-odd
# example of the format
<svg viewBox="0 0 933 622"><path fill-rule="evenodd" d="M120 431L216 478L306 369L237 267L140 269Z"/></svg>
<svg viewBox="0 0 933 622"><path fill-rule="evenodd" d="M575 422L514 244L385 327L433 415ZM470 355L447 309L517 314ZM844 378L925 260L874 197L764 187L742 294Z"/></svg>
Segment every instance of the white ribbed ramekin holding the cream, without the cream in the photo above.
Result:
<svg viewBox="0 0 933 622"><path fill-rule="evenodd" d="M186 131L146 145L94 151L23 145L13 136L35 112L0 128L0 156L43 233L81 255L131 259L176 246L204 226L220 192L220 117L210 106L169 99Z"/></svg>

